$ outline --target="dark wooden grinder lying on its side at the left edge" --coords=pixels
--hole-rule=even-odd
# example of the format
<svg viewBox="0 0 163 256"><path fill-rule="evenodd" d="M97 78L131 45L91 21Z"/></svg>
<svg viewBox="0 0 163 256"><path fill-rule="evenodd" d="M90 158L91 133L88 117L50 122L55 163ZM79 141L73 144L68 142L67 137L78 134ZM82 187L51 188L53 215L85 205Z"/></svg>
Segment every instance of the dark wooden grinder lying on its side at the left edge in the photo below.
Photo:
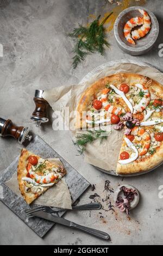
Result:
<svg viewBox="0 0 163 256"><path fill-rule="evenodd" d="M32 136L28 135L28 127L16 126L10 119L5 120L0 118L0 136L7 137L11 136L18 139L18 143L22 144L26 139L31 141Z"/></svg>

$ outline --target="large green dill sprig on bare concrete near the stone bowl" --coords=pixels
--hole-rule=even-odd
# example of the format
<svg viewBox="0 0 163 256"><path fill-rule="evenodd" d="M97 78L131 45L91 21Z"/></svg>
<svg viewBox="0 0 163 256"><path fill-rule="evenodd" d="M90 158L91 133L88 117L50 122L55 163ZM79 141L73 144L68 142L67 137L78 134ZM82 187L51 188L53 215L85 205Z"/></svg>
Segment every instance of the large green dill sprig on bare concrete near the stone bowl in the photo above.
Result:
<svg viewBox="0 0 163 256"><path fill-rule="evenodd" d="M99 18L101 15L88 27L79 24L78 28L74 28L72 33L68 34L76 42L73 49L74 57L72 65L74 69L90 53L99 52L101 55L104 55L104 46L109 47L109 43L105 40L105 29L103 25L111 14L106 16L100 24Z"/></svg>

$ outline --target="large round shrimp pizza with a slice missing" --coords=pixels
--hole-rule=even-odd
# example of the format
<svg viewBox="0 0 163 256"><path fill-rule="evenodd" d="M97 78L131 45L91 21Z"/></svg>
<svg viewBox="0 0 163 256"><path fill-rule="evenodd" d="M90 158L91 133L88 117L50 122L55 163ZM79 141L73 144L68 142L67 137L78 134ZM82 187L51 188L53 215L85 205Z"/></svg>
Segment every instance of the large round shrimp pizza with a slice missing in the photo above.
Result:
<svg viewBox="0 0 163 256"><path fill-rule="evenodd" d="M163 161L163 87L139 74L93 83L80 97L76 129L111 125L124 131L117 174L144 172Z"/></svg>

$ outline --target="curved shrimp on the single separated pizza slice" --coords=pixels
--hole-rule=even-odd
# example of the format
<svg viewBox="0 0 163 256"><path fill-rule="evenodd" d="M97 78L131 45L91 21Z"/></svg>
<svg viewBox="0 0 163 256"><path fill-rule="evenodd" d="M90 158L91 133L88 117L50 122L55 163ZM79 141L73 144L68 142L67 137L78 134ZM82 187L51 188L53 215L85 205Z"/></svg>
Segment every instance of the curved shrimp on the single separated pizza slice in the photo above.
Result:
<svg viewBox="0 0 163 256"><path fill-rule="evenodd" d="M32 170L32 166L30 163L28 164L28 173L30 175L30 178L34 179L35 182L39 184L47 184L47 183L54 182L54 180L58 179L59 177L57 174L54 174L53 172L48 173L46 175L42 175L42 176L38 175L36 174L36 172Z"/></svg>

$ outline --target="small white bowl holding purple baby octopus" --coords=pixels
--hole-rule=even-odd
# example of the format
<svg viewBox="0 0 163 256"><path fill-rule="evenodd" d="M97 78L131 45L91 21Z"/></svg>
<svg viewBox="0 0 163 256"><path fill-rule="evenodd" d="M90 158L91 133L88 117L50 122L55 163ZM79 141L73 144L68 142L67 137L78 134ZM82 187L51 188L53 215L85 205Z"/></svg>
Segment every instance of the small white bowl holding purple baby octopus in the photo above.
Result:
<svg viewBox="0 0 163 256"><path fill-rule="evenodd" d="M123 186L127 187L129 189L132 188L133 190L136 190L137 196L134 195L134 200L132 202L130 202L130 209L129 210L134 209L137 206L137 204L139 203L139 191L131 185L124 184L124 185L121 185L121 186L117 187L117 189L115 191L115 194L114 194L114 202L116 202L117 197L124 198L123 190L121 190L121 187L123 187Z"/></svg>

